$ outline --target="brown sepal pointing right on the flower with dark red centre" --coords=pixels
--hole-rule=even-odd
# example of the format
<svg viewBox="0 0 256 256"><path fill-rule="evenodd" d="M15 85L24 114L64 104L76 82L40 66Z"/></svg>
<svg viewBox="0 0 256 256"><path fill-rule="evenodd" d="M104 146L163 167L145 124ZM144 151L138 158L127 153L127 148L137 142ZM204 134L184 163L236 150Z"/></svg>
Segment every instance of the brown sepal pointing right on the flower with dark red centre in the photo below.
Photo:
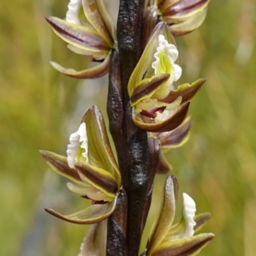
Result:
<svg viewBox="0 0 256 256"><path fill-rule="evenodd" d="M205 83L205 81L205 78L201 78L196 80L192 84L181 84L180 86L178 86L177 90L172 90L166 98L159 101L171 103L179 96L182 97L182 103L191 101L195 94L200 90L202 85Z"/></svg>

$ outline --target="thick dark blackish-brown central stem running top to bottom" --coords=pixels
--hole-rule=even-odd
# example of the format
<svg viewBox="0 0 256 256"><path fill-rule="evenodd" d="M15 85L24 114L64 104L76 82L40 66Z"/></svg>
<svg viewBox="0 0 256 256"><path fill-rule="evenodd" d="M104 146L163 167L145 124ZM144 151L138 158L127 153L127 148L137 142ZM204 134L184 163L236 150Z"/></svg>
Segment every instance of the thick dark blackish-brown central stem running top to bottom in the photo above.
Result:
<svg viewBox="0 0 256 256"><path fill-rule="evenodd" d="M121 0L117 26L124 106L123 149L122 152L118 152L118 160L122 184L128 198L126 241L129 256L138 255L143 205L147 196L150 172L147 133L133 124L132 108L127 93L129 78L141 56L143 7L144 0Z"/></svg>

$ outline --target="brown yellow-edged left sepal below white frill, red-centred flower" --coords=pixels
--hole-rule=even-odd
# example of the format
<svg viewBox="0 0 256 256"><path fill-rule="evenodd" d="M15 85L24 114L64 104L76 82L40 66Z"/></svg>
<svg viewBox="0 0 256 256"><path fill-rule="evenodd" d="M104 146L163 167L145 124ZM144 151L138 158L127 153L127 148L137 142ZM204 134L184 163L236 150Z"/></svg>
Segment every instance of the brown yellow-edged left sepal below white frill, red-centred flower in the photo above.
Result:
<svg viewBox="0 0 256 256"><path fill-rule="evenodd" d="M143 79L138 84L131 96L131 106L134 106L140 100L150 97L163 83L168 81L170 74L159 74L151 78Z"/></svg>

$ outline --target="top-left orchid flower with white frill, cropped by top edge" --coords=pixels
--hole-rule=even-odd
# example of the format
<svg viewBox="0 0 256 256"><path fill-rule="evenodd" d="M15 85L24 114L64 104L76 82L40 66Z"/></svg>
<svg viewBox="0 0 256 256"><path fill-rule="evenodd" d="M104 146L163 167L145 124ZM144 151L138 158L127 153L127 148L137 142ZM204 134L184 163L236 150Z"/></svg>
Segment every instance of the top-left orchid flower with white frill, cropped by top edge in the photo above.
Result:
<svg viewBox="0 0 256 256"><path fill-rule="evenodd" d="M46 20L71 51L102 62L81 71L62 67L54 61L50 62L52 67L76 78L95 78L108 73L116 37L102 0L70 0L65 20L56 17L46 17Z"/></svg>

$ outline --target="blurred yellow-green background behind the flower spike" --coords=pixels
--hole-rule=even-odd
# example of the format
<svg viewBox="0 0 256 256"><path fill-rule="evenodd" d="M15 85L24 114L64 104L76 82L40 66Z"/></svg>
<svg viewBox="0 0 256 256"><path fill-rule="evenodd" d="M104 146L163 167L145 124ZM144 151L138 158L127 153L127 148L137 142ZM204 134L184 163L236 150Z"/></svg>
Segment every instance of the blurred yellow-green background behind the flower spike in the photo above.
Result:
<svg viewBox="0 0 256 256"><path fill-rule="evenodd" d="M65 17L67 3L1 1L0 255L77 255L86 233L87 227L44 212L44 207L75 212L84 200L69 193L66 180L38 153L65 154L68 134L93 104L106 115L106 78L77 81L48 64L86 65L44 20L44 15ZM253 0L212 0L200 29L177 38L179 83L207 77L191 104L188 143L168 152L179 180L179 204L186 192L197 212L212 212L203 231L216 237L202 256L256 255L255 13ZM154 209L163 182L157 177Z"/></svg>

